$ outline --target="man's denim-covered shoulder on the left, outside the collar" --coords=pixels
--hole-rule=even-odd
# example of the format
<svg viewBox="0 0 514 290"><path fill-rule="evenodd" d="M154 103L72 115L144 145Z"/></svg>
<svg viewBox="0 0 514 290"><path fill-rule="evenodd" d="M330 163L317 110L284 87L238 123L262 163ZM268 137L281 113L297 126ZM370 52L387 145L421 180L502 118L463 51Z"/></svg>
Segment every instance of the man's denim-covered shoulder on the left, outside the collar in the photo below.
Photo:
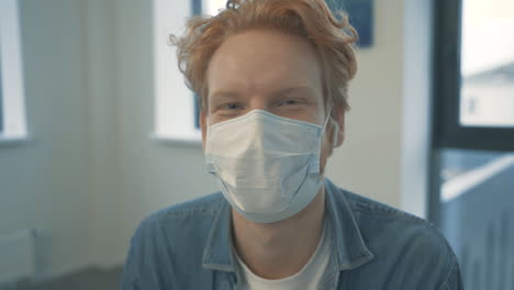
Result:
<svg viewBox="0 0 514 290"><path fill-rule="evenodd" d="M123 289L133 289L131 283L137 289L190 289L185 286L209 281L202 255L222 202L223 196L213 193L143 219L131 238Z"/></svg>

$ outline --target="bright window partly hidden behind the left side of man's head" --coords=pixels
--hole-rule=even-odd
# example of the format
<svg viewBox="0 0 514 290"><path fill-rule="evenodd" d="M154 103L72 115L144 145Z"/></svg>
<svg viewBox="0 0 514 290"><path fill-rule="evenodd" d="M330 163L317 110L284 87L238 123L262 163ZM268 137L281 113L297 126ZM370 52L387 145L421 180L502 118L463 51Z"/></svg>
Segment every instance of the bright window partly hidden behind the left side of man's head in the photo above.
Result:
<svg viewBox="0 0 514 290"><path fill-rule="evenodd" d="M154 137L200 144L198 108L177 68L176 48L169 35L183 33L190 15L187 1L154 0L155 132Z"/></svg>

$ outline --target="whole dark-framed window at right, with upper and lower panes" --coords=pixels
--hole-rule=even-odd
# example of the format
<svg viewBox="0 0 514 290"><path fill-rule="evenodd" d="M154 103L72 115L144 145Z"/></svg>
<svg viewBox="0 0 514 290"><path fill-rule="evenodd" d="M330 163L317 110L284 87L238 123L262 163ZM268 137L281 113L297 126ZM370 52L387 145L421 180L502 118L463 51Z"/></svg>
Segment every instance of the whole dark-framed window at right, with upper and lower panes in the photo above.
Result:
<svg viewBox="0 0 514 290"><path fill-rule="evenodd" d="M514 289L514 2L435 4L431 220L467 289Z"/></svg>

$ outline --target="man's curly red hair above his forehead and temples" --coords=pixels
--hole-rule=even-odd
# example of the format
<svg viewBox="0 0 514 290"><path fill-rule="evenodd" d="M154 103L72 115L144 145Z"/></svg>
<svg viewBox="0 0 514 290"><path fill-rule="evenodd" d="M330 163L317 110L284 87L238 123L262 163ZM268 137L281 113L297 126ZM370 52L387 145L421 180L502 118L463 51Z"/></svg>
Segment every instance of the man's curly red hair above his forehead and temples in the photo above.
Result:
<svg viewBox="0 0 514 290"><path fill-rule="evenodd" d="M206 109L205 81L214 52L231 35L249 29L271 29L304 37L322 59L325 102L348 110L348 81L357 71L354 43L358 35L345 13L340 20L324 0L228 0L215 16L198 15L188 20L182 37L170 36L177 46L178 66L186 83Z"/></svg>

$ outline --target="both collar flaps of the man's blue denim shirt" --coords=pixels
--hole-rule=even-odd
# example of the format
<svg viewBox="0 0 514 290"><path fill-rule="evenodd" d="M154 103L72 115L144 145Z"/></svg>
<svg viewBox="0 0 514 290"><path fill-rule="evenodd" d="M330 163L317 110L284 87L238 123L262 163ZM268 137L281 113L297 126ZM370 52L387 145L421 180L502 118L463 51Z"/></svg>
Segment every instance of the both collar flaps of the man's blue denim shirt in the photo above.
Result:
<svg viewBox="0 0 514 290"><path fill-rule="evenodd" d="M368 249L360 234L346 194L325 178L327 231L331 250L337 253L337 270L355 269L370 261L373 254ZM235 257L232 253L231 207L223 198L220 202L203 250L204 268L235 272Z"/></svg>

